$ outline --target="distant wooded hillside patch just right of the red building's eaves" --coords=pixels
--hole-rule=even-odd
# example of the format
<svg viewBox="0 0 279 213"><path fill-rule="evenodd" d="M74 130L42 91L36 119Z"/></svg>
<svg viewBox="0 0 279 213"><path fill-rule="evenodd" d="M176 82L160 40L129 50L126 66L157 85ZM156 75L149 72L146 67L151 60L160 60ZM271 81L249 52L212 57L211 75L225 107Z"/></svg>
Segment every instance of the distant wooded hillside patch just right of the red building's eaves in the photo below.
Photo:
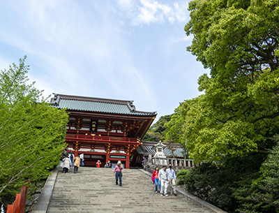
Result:
<svg viewBox="0 0 279 213"><path fill-rule="evenodd" d="M149 130L146 132L144 135L144 138L142 140L144 141L153 141L153 142L158 142L159 140L163 140L163 137L165 135L165 123L169 122L171 119L171 115L165 115L160 117L158 122L153 124Z"/></svg>

